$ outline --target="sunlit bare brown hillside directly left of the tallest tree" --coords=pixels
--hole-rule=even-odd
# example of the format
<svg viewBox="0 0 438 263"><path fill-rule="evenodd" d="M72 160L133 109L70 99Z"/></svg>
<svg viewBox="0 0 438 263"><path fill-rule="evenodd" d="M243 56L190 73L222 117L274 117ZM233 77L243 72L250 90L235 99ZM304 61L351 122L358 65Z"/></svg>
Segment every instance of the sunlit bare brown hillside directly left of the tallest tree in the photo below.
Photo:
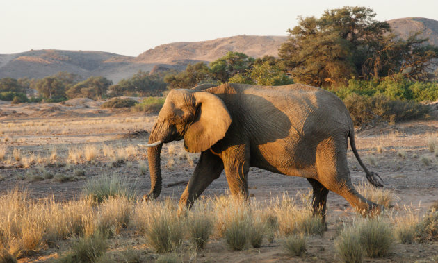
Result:
<svg viewBox="0 0 438 263"><path fill-rule="evenodd" d="M184 60L213 61L229 51L242 52L254 58L277 56L286 36L237 35L200 42L176 42L156 46L141 53L135 61L173 64Z"/></svg>

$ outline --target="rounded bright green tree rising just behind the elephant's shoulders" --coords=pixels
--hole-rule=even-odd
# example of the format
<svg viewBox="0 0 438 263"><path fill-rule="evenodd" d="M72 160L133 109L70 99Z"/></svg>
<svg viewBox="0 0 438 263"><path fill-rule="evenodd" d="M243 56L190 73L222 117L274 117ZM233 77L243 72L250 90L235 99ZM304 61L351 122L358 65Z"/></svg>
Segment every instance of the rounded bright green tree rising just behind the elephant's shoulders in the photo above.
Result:
<svg viewBox="0 0 438 263"><path fill-rule="evenodd" d="M254 63L254 58L244 53L229 51L227 55L210 63L210 74L220 83L227 83L236 74L245 74Z"/></svg>

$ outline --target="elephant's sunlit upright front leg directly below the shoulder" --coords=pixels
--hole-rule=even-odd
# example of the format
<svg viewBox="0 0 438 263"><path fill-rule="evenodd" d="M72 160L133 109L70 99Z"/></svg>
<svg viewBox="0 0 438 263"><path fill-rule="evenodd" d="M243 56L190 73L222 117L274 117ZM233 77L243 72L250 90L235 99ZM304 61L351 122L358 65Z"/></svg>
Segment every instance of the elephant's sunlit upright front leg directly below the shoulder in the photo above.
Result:
<svg viewBox="0 0 438 263"><path fill-rule="evenodd" d="M233 196L248 199L250 154L245 145L232 146L222 153L229 191Z"/></svg>

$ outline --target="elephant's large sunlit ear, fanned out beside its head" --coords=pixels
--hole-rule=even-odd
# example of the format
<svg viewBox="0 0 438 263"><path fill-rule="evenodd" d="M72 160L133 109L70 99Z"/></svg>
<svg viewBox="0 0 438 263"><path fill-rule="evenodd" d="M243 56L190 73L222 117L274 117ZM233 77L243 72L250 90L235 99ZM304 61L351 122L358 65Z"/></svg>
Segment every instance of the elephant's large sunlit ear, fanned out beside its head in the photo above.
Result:
<svg viewBox="0 0 438 263"><path fill-rule="evenodd" d="M227 133L232 122L225 103L209 92L193 92L196 115L184 135L184 148L190 153L209 149Z"/></svg>

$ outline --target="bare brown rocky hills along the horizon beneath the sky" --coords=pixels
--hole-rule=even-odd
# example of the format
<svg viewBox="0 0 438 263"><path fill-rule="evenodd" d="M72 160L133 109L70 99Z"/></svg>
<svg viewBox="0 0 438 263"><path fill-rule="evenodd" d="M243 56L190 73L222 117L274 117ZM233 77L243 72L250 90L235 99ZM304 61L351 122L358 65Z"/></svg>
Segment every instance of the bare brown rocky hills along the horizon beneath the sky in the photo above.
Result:
<svg viewBox="0 0 438 263"><path fill-rule="evenodd" d="M438 21L409 17L388 21L394 33L406 38L416 31L423 31L429 43L438 46ZM175 42L156 46L137 57L122 56L100 51L38 50L16 54L0 54L0 78L43 78L68 71L88 76L105 76L117 83L138 70L183 70L191 62L211 62L228 51L238 51L259 58L277 56L278 48L286 36L238 35L200 42Z"/></svg>

